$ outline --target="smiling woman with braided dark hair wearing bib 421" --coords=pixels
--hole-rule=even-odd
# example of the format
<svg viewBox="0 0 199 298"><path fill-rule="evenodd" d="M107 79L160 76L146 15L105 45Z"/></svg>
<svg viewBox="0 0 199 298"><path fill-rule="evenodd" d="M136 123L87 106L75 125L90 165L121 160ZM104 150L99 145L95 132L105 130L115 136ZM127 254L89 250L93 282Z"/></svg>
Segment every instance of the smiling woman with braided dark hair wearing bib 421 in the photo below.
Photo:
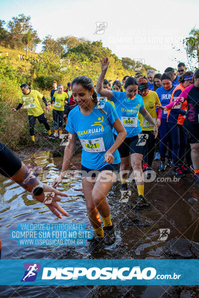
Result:
<svg viewBox="0 0 199 298"><path fill-rule="evenodd" d="M98 236L94 239L94 245L110 245L115 241L115 235L106 196L116 180L115 172L119 172L117 148L125 139L126 131L112 105L98 100L90 77L77 76L71 85L78 106L68 115L66 130L69 132L69 144L64 151L61 174L53 186L57 187L64 179L73 156L77 134L83 147L81 173L87 213ZM112 127L118 134L115 141Z"/></svg>

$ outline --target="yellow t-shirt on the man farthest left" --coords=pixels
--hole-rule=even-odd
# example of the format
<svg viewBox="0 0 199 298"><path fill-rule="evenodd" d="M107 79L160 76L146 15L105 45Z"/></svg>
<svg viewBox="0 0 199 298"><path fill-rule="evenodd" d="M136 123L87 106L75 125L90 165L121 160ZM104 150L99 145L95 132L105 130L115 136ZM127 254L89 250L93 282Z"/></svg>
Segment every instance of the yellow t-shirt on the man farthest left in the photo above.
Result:
<svg viewBox="0 0 199 298"><path fill-rule="evenodd" d="M37 90L31 90L29 94L22 94L20 103L23 108L28 110L28 116L38 117L43 114L43 109L40 105L39 98L43 95Z"/></svg>

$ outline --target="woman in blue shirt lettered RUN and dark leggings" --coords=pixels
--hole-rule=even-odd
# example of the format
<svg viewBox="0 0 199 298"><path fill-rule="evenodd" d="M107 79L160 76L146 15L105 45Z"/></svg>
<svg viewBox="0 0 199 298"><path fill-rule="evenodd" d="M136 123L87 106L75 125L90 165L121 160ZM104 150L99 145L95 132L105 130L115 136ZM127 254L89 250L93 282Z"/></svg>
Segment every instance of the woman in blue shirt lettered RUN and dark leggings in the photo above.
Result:
<svg viewBox="0 0 199 298"><path fill-rule="evenodd" d="M162 106L165 106L170 102L172 92L174 90L174 86L172 85L172 76L171 74L163 74L161 77L162 86L159 87L156 92L159 96L160 103ZM160 132L160 167L159 171L164 171L166 169L166 166L173 166L172 163L172 143L171 143L171 137L169 134L169 128L167 123L167 114L168 111L163 111L162 118L161 118L161 125L159 127ZM169 144L169 146L168 146ZM169 156L167 165L165 162L165 157L167 153L167 149L169 148Z"/></svg>

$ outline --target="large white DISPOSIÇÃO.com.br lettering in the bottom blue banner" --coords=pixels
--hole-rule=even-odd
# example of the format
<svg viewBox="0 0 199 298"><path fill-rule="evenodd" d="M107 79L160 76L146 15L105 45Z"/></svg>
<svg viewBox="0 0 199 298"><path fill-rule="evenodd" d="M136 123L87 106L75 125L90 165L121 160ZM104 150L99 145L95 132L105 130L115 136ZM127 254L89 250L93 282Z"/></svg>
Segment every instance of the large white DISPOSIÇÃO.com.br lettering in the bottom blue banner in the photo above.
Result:
<svg viewBox="0 0 199 298"><path fill-rule="evenodd" d="M156 269L153 267L146 267L143 270L140 266L122 267L44 267L42 273L42 280L78 280L79 278L86 278L88 280L121 280L127 281L133 278L137 280L152 280L152 279L179 279L181 275L174 273L173 275L156 275Z"/></svg>

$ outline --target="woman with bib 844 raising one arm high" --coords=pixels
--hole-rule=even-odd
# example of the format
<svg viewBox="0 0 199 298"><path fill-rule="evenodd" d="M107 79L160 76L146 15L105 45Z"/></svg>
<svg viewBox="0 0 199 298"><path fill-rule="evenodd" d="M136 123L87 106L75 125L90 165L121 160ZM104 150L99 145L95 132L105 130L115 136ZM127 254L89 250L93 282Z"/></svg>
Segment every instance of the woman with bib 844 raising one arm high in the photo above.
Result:
<svg viewBox="0 0 199 298"><path fill-rule="evenodd" d="M108 69L108 58L103 58L101 61L101 74L96 84L96 90L102 96L112 100L115 104L115 110L127 132L126 139L119 147L119 154L121 157L120 176L122 182L121 190L127 189L126 178L129 167L129 155L131 158L131 165L134 171L135 182L138 190L137 204L144 204L144 177L142 171L142 157L143 150L146 143L142 129L139 125L138 113L140 112L143 117L151 123L154 127L155 137L158 134L156 122L147 112L144 107L144 102L141 95L137 94L138 81L134 77L128 77L124 84L125 92L110 91L103 88L103 79ZM115 138L117 132L113 130ZM140 146L141 145L141 146Z"/></svg>

